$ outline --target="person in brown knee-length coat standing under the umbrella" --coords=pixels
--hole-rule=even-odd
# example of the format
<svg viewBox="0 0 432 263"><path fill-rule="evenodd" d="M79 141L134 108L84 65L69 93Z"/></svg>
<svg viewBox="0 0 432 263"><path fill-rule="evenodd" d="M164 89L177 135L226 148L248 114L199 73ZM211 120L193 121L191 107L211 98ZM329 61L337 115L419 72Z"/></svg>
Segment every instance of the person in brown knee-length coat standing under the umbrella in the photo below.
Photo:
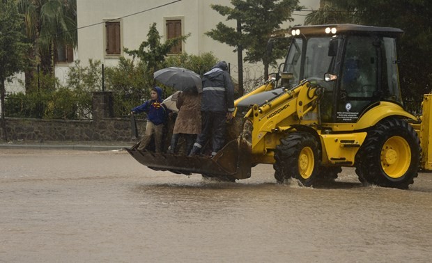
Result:
<svg viewBox="0 0 432 263"><path fill-rule="evenodd" d="M201 133L201 94L196 90L185 90L178 95L176 106L178 115L171 137L169 154L177 154L180 136L185 137L186 155L190 153L196 136Z"/></svg>

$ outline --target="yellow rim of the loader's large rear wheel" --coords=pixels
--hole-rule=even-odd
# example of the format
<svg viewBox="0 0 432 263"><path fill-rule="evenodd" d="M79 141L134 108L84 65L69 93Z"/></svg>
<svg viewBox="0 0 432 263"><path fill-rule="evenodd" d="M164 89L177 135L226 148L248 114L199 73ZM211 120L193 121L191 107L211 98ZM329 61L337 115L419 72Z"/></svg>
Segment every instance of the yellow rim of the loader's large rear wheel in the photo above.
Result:
<svg viewBox="0 0 432 263"><path fill-rule="evenodd" d="M411 149L401 136L389 138L381 150L381 167L391 178L402 177L411 163Z"/></svg>

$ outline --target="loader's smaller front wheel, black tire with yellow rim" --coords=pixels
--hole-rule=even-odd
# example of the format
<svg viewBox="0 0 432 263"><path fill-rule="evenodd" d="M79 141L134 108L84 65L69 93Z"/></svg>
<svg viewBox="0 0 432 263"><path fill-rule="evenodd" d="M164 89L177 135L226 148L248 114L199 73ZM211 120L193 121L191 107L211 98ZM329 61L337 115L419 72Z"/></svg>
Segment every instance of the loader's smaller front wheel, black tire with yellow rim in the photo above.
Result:
<svg viewBox="0 0 432 263"><path fill-rule="evenodd" d="M316 138L304 131L288 134L281 139L275 152L275 179L284 182L291 177L304 186L313 186L318 177L321 156Z"/></svg>

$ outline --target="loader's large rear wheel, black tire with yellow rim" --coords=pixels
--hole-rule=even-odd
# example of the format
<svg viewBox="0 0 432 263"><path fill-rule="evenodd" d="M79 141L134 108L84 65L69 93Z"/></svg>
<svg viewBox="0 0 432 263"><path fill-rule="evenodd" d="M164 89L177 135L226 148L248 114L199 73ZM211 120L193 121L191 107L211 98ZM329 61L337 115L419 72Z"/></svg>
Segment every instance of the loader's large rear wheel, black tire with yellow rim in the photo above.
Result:
<svg viewBox="0 0 432 263"><path fill-rule="evenodd" d="M357 152L360 182L408 189L418 175L420 140L408 122L387 118L373 127Z"/></svg>

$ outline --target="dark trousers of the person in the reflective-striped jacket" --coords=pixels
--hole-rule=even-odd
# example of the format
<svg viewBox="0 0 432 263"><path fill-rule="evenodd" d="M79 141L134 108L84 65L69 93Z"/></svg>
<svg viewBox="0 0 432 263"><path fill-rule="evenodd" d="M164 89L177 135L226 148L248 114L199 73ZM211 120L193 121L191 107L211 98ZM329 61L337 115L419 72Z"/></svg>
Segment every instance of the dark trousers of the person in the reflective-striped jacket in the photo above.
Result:
<svg viewBox="0 0 432 263"><path fill-rule="evenodd" d="M201 134L194 146L202 148L212 138L212 155L215 155L225 144L226 113L219 111L201 111Z"/></svg>

